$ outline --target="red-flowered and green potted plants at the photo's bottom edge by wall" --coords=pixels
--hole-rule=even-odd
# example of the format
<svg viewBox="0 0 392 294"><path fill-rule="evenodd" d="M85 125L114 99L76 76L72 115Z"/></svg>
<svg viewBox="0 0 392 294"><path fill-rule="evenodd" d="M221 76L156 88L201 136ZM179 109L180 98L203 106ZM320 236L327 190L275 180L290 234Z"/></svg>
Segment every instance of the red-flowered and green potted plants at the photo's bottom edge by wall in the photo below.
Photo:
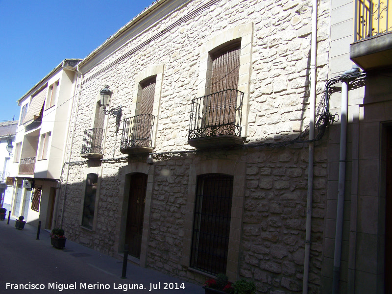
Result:
<svg viewBox="0 0 392 294"><path fill-rule="evenodd" d="M241 279L230 283L226 275L220 273L216 279L209 279L203 286L205 294L254 294L256 285L254 282Z"/></svg>

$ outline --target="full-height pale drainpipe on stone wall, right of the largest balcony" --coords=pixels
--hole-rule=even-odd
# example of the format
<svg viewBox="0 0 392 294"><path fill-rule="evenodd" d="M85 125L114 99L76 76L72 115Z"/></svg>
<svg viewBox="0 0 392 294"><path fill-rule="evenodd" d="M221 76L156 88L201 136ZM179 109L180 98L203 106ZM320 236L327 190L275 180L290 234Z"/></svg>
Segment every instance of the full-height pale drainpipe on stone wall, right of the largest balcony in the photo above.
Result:
<svg viewBox="0 0 392 294"><path fill-rule="evenodd" d="M311 62L310 62L310 121L309 140L315 137L315 113L316 113L316 54L317 54L317 0L312 1L312 39L311 39ZM311 244L311 224L312 224L312 198L313 198L313 155L314 143L309 143L309 163L308 163L308 193L306 209L306 236L305 236L305 257L303 267L302 294L308 293L309 280L309 259Z"/></svg>

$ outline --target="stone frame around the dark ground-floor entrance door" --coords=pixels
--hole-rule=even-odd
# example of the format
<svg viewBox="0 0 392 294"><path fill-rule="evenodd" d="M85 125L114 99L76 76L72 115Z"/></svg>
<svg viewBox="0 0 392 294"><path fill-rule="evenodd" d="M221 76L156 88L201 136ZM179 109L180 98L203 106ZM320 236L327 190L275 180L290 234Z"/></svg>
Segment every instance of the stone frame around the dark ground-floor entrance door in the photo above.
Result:
<svg viewBox="0 0 392 294"><path fill-rule="evenodd" d="M142 246L140 251L140 259L136 257L128 256L132 262L139 264L139 266L145 268L147 260L147 245L149 237L149 222L151 213L151 198L153 189L153 178L154 178L154 165L147 163L134 162L120 168L120 191L119 191L119 207L117 211L117 219L121 220L116 225L116 235L114 248L118 249L118 253L123 253L124 245L123 241L125 238L125 227L126 227L126 212L128 209L128 201L124 199L128 198L129 195L129 178L133 173L144 173L147 174L147 189L146 189L146 203L144 207L144 219L143 219L143 232L142 232Z"/></svg>

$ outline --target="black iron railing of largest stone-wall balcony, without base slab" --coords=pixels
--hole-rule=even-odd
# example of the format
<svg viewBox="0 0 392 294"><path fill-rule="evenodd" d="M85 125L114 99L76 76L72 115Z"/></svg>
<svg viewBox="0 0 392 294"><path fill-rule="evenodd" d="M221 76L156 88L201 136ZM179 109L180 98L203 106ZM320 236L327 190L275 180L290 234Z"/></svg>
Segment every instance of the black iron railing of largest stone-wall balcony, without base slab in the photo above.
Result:
<svg viewBox="0 0 392 294"><path fill-rule="evenodd" d="M192 99L189 139L220 135L241 136L244 93L224 90Z"/></svg>

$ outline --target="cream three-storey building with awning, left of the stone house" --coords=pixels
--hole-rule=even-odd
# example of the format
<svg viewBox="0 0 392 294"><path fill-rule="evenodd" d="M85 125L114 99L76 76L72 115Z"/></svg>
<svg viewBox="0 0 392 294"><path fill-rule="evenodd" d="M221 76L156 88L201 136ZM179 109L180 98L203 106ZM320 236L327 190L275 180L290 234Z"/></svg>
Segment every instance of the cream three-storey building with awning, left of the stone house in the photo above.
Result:
<svg viewBox="0 0 392 294"><path fill-rule="evenodd" d="M58 181L73 103L79 59L65 59L18 100L21 114L15 136L17 165L11 213L33 225L55 226Z"/></svg>

